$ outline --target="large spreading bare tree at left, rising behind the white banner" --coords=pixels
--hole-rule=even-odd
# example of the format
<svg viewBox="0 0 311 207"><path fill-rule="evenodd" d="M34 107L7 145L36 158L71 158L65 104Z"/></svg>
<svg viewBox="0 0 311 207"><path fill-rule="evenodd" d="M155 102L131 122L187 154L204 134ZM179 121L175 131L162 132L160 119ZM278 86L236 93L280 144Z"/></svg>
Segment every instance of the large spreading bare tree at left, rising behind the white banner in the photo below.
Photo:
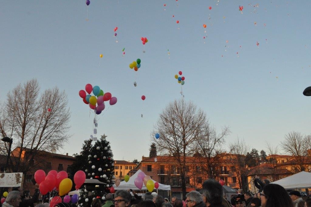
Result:
<svg viewBox="0 0 311 207"><path fill-rule="evenodd" d="M13 138L12 149L16 148L10 157L13 172L31 171L36 164L42 164L35 161L40 153L57 151L69 137L67 95L57 87L41 95L39 90L36 79L19 84L7 94L0 108L0 133ZM3 142L1 145L1 153L7 154L8 146Z"/></svg>

